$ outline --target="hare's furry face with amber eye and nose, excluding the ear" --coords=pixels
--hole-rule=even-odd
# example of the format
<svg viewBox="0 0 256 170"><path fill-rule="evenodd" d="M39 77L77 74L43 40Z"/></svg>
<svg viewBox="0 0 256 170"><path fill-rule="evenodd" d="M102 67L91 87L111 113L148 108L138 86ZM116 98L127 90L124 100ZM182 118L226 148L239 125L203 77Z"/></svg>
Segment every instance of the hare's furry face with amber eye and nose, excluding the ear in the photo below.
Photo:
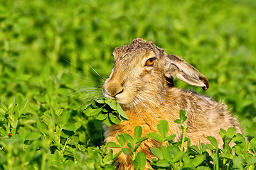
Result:
<svg viewBox="0 0 256 170"><path fill-rule="evenodd" d="M114 68L103 86L104 96L115 99L124 108L159 101L165 93L159 55L149 49L124 48L117 47L113 52Z"/></svg>

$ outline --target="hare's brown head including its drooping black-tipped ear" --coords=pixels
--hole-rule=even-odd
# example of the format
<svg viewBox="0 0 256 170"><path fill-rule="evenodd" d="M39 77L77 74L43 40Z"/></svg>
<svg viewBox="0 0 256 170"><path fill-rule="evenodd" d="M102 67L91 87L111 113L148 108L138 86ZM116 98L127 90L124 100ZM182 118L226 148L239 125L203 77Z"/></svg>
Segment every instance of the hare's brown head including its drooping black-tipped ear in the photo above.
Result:
<svg viewBox="0 0 256 170"><path fill-rule="evenodd" d="M173 76L203 90L208 80L181 57L168 55L153 42L142 38L130 45L117 47L114 52L114 68L103 85L103 95L115 99L124 108L139 103L163 101L166 91L174 86Z"/></svg>

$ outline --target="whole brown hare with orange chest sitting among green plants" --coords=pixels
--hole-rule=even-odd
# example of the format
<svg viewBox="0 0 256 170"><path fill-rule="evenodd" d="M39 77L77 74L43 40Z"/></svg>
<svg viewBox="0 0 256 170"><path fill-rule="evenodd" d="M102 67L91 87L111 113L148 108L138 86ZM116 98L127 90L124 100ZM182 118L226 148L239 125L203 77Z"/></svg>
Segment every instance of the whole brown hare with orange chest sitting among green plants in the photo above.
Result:
<svg viewBox="0 0 256 170"><path fill-rule="evenodd" d="M168 55L153 42L146 42L142 38L132 40L130 45L115 48L113 55L114 68L105 80L102 93L119 103L129 121L110 127L104 125L105 142L117 142L116 135L124 132L134 136L134 128L138 125L143 128L142 136L157 132L159 120L168 121L169 135L176 134L174 140L177 141L181 139L182 131L174 120L179 118L181 109L188 117L186 137L191 139L191 145L209 143L206 137L213 136L221 147L220 128L228 130L235 127L237 132L242 133L238 120L230 115L223 103L174 87L175 76L203 90L209 88L206 77L181 57ZM161 143L149 139L139 147L139 151L144 152L149 160L154 157L150 152L151 147L161 147ZM119 150L114 149L114 152ZM133 169L132 160L125 154L119 155L116 166L117 169ZM146 166L151 167L149 164Z"/></svg>

